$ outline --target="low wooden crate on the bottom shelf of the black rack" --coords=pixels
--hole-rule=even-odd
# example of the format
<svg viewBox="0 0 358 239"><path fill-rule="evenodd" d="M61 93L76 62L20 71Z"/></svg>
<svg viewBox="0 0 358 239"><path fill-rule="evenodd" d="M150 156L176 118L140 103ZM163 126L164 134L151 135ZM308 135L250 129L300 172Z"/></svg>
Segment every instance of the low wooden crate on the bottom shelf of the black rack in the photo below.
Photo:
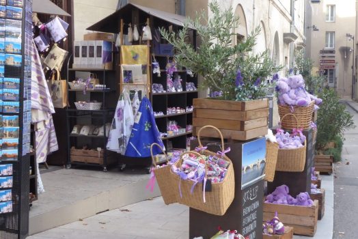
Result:
<svg viewBox="0 0 358 239"><path fill-rule="evenodd" d="M71 149L71 162L103 165L103 151ZM114 154L107 151L107 165L112 165L115 162Z"/></svg>

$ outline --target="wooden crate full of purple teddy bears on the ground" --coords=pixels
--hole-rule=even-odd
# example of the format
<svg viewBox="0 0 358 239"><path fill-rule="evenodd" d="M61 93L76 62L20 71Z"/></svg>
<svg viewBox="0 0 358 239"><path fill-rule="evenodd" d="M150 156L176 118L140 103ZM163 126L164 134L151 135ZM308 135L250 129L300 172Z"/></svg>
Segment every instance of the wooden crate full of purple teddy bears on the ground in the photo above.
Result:
<svg viewBox="0 0 358 239"><path fill-rule="evenodd" d="M264 221L270 221L278 213L284 225L293 227L293 233L314 236L317 229L318 201L310 207L264 203Z"/></svg>

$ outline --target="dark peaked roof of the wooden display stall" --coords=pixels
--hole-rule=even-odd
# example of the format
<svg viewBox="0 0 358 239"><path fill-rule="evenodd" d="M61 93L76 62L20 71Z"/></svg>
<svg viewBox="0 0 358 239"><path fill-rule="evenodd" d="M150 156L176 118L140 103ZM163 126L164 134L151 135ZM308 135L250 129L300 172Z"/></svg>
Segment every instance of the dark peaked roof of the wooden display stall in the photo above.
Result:
<svg viewBox="0 0 358 239"><path fill-rule="evenodd" d="M164 12L161 10L156 10L154 8L147 8L143 7L142 5L137 5L134 3L128 3L120 10L114 12L113 14L103 18L98 23L88 27L87 30L91 31L102 31L102 32L109 32L109 33L118 33L118 24L119 19L123 18L125 23L131 22L132 19L132 10L133 8L137 8L154 18L160 18L161 20L165 20L168 23L172 23L177 26L184 26L187 18L185 16L181 16L178 14L172 14L169 12ZM190 26L191 29L194 29Z"/></svg>

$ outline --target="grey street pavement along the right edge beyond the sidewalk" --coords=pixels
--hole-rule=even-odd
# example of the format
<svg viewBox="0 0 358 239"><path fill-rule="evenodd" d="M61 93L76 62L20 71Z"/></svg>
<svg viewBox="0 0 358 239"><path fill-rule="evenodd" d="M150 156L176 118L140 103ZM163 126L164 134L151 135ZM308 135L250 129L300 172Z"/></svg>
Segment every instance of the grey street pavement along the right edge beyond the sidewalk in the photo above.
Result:
<svg viewBox="0 0 358 239"><path fill-rule="evenodd" d="M335 164L334 239L358 238L358 103L346 103L357 128L344 133L342 162Z"/></svg>

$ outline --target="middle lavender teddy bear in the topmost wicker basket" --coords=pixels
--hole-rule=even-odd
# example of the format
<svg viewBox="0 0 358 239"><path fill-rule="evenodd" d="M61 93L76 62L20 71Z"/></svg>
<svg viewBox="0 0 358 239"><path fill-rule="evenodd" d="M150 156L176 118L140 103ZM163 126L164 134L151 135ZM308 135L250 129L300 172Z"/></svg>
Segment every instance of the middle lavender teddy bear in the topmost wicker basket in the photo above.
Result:
<svg viewBox="0 0 358 239"><path fill-rule="evenodd" d="M288 96L292 100L296 100L297 106L306 107L311 102L311 98L309 98L305 90L305 81L301 74L288 77L288 86L291 88Z"/></svg>

